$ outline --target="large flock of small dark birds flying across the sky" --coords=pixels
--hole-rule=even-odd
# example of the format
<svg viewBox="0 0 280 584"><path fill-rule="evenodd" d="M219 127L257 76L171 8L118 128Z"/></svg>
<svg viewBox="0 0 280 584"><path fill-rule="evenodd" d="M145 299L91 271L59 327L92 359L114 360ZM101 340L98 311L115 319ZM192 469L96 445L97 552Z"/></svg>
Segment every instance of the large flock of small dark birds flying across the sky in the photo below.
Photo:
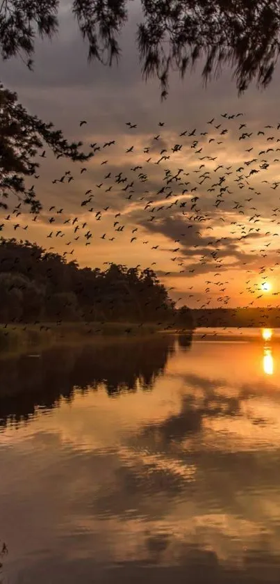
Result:
<svg viewBox="0 0 280 584"><path fill-rule="evenodd" d="M81 120L79 126L85 131L87 124ZM147 142L139 145L140 139ZM167 145L171 139L174 143ZM280 123L260 129L247 124L243 113L222 113L204 128L183 128L176 135L160 121L157 131L143 138L138 124L127 122L120 143L109 139L90 143L90 149L93 157L84 166L74 163L73 171L67 168L49 179L53 204L40 214L28 214L21 201L2 213L3 235L9 230L9 237L23 239L23 231L29 235L38 225L38 244L69 260L75 251L82 259L82 246L92 246L87 255L92 267L100 244L108 246L110 260L109 244L115 242L120 263L129 262L129 246L137 245L145 267L150 262L164 283L176 278L177 288L184 289L177 301L195 308L227 307L235 287L249 299L242 306L258 306L265 283L279 269ZM186 285L185 278L195 276L200 280Z"/></svg>

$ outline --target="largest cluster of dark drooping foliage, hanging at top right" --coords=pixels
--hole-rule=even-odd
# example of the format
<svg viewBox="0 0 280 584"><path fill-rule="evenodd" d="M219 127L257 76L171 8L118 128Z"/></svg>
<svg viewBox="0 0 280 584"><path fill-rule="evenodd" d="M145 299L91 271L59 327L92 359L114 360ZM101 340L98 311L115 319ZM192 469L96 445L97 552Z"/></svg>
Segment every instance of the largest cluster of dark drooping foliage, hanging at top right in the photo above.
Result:
<svg viewBox="0 0 280 584"><path fill-rule="evenodd" d="M162 97L170 69L181 77L199 58L207 81L229 65L242 93L253 79L267 86L279 56L280 5L270 0L142 0L138 48L145 77L156 74ZM167 49L166 49L167 47Z"/></svg>

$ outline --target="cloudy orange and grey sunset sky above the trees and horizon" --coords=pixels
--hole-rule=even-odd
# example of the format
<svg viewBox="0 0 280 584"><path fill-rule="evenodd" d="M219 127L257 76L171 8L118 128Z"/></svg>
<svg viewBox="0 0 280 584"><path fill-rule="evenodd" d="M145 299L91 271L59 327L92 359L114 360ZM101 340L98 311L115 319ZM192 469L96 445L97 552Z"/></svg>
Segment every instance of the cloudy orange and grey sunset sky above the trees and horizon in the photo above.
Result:
<svg viewBox="0 0 280 584"><path fill-rule="evenodd" d="M42 214L33 222L24 212L16 220L15 215L4 220L7 214L2 213L3 235L29 239L60 253L67 251L66 258L76 259L83 267L104 269L104 262L110 261L152 267L160 280L172 288L170 294L179 299L178 306L181 303L194 308L277 306L280 303L277 283L279 67L265 94L252 86L241 97L237 95L230 71L225 71L206 88L199 66L192 74L187 73L183 81L174 72L167 100L160 102L158 80L149 80L147 84L142 81L135 45L136 25L140 20L138 3L130 5L129 22L122 35L122 58L112 68L88 64L88 48L67 3L63 6L59 35L51 42L44 40L36 45L34 72L16 58L2 63L1 77L6 86L17 91L19 101L28 111L53 121L63 129L67 139L81 139L85 151L90 149L90 143L97 143L101 150L84 165L56 160L47 152L46 159L40 159L40 179L30 183L35 182L44 205ZM244 115L228 120L221 116L226 112ZM207 122L212 118L215 120L210 125ZM87 123L80 127L80 120ZM128 122L137 127L131 129L126 125ZM246 126L240 129L240 124ZM221 126L216 128L216 125ZM267 125L272 128L265 128ZM194 129L195 135L188 136ZM221 135L223 129L228 132ZM186 136L179 136L186 130ZM264 135L258 134L259 131ZM208 134L201 135L201 132ZM240 140L242 132L252 132L252 136ZM160 137L155 140L158 134ZM209 139L214 140L209 143ZM194 140L199 142L192 147ZM103 148L108 141L115 144ZM222 143L217 144L218 141ZM182 148L172 152L176 144ZM133 150L126 152L132 145ZM143 152L145 148L149 152ZM200 148L202 151L197 152ZM266 152L269 148L272 152ZM162 150L167 150L163 154L170 159L155 164ZM259 155L261 151L264 153ZM199 159L204 156L215 160ZM106 164L101 164L104 161ZM245 161L252 162L245 165ZM260 165L267 163L267 168L260 169ZM219 165L223 168L217 169ZM135 166L142 168L132 171ZM83 167L87 170L81 174ZM165 169L170 169L170 176L174 177L179 168L183 169L178 175L180 180L167 184L163 180ZM243 170L237 172L238 168ZM249 176L252 169L258 173ZM54 179L60 179L68 170L74 177L72 182L68 183L65 178L64 183L53 184ZM208 191L213 183L219 183L222 175L231 171L220 184L227 186L229 192L217 196L219 186ZM120 172L127 180L117 184L115 176ZM105 179L108 173L110 177ZM209 173L210 178L204 178L204 173ZM238 176L240 180L236 182ZM123 191L131 182L133 187ZM101 187L96 186L101 183ZM240 184L244 184L241 189ZM158 193L162 187L165 190ZM195 187L197 190L191 192ZM94 196L90 203L81 206L88 198L85 192L89 189ZM186 190L184 194L183 190ZM166 199L170 191L172 195ZM190 199L194 196L199 199L191 209ZM223 200L217 204L219 198ZM185 201L185 206L180 207ZM171 208L167 208L171 203ZM56 208L49 212L52 205ZM158 210L158 207L163 208ZM57 214L60 209L63 212ZM99 220L98 211L101 212ZM121 215L115 218L117 213ZM53 223L49 223L51 216L55 218ZM72 225L76 216L79 221ZM65 224L67 219L69 223ZM114 227L115 221L119 223ZM17 230L15 223L19 223ZM83 223L87 225L83 227ZM28 228L23 230L26 225ZM76 226L79 230L74 232ZM120 226L124 226L123 230L117 231ZM56 237L58 230L63 237L61 234ZM47 238L51 231L52 237ZM92 233L92 238L90 245L85 246L87 231ZM110 241L112 237L115 239ZM131 242L133 237L136 239ZM66 246L68 242L71 243ZM72 249L74 252L68 255ZM265 281L270 290L261 289Z"/></svg>

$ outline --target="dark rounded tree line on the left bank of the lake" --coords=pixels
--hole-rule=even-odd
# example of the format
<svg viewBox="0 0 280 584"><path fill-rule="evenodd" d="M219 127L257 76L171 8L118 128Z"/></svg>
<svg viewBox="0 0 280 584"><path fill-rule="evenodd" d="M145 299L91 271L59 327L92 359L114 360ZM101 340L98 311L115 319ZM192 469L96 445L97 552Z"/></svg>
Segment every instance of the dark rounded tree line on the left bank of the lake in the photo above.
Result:
<svg viewBox="0 0 280 584"><path fill-rule="evenodd" d="M152 322L192 328L149 268L79 267L38 244L0 239L0 322Z"/></svg>

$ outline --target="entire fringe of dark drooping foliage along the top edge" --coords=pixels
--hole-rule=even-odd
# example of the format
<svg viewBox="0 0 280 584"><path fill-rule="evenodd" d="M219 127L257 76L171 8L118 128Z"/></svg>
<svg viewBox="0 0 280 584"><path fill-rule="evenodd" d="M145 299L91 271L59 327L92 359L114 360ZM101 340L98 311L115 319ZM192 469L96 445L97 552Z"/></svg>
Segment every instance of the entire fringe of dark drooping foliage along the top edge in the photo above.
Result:
<svg viewBox="0 0 280 584"><path fill-rule="evenodd" d="M145 78L156 74L162 97L170 70L181 76L199 58L204 79L231 66L238 91L253 79L266 86L279 56L277 0L141 0L137 44ZM2 0L0 50L4 59L32 56L37 34L58 31L59 0ZM70 10L70 6L69 6ZM72 13L88 43L89 58L102 63L120 56L118 36L128 19L128 0L74 0Z"/></svg>

